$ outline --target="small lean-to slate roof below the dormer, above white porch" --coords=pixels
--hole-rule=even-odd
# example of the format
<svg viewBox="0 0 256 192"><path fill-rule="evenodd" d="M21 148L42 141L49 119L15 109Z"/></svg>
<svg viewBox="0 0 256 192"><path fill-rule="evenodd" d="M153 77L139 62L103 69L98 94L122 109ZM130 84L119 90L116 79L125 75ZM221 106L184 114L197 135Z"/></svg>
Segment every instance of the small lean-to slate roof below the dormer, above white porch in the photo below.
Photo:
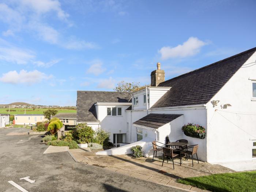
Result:
<svg viewBox="0 0 256 192"><path fill-rule="evenodd" d="M142 117L138 121L135 121L133 124L143 125L146 127L151 128L159 128L173 121L174 119L182 116L182 114L157 114L157 113L150 113L145 117Z"/></svg>

